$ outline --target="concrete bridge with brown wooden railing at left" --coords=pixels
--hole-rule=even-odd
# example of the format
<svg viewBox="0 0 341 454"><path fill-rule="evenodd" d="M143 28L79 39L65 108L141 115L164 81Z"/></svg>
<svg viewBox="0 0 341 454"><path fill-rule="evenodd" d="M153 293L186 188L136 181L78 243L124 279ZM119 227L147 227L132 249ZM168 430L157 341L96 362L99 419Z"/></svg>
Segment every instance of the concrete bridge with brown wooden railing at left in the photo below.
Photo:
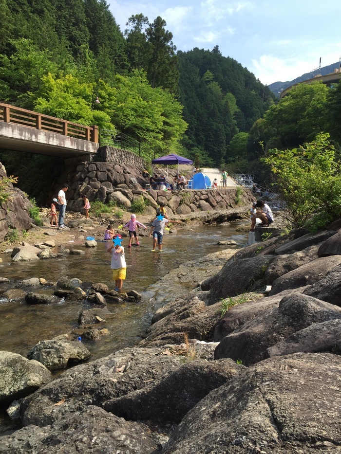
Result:
<svg viewBox="0 0 341 454"><path fill-rule="evenodd" d="M94 155L98 147L97 126L0 103L0 148L72 158Z"/></svg>

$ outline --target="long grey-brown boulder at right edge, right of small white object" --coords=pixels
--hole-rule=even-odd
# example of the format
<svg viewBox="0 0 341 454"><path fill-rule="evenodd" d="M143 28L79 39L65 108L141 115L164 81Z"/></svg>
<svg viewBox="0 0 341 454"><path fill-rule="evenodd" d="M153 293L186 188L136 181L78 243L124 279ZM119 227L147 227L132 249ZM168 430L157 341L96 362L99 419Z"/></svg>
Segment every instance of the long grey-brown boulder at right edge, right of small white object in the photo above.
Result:
<svg viewBox="0 0 341 454"><path fill-rule="evenodd" d="M272 283L270 295L287 289L296 289L305 285L315 284L340 263L341 255L316 258L277 278Z"/></svg>

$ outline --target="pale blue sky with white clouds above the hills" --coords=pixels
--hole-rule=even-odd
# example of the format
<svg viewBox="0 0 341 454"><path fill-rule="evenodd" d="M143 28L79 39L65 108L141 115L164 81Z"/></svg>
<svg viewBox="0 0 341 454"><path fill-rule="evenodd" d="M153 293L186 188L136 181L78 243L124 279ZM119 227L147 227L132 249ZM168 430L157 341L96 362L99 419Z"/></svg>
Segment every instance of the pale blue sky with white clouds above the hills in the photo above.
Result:
<svg viewBox="0 0 341 454"><path fill-rule="evenodd" d="M339 61L341 1L107 0L124 32L132 15L161 16L178 50L234 58L264 84L292 80Z"/></svg>

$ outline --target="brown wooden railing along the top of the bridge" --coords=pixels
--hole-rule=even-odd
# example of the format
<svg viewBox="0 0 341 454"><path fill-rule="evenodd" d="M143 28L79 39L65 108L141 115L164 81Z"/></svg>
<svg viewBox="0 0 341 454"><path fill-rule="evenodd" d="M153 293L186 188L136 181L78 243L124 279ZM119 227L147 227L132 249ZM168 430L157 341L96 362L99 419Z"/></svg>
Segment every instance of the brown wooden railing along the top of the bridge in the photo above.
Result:
<svg viewBox="0 0 341 454"><path fill-rule="evenodd" d="M16 123L98 143L98 126L84 126L20 107L0 103L0 122Z"/></svg>

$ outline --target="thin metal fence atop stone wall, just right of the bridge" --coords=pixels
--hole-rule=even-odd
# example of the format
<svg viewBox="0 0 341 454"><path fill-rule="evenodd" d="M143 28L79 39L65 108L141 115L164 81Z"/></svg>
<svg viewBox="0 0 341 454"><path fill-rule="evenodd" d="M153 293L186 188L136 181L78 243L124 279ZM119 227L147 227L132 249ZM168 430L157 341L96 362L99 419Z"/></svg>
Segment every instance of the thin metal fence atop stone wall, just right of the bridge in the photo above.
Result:
<svg viewBox="0 0 341 454"><path fill-rule="evenodd" d="M132 137L120 131L111 131L110 129L99 129L99 145L114 146L124 150L133 151L145 161L152 161L155 153L146 144L133 139Z"/></svg>

